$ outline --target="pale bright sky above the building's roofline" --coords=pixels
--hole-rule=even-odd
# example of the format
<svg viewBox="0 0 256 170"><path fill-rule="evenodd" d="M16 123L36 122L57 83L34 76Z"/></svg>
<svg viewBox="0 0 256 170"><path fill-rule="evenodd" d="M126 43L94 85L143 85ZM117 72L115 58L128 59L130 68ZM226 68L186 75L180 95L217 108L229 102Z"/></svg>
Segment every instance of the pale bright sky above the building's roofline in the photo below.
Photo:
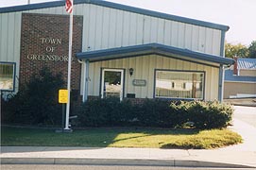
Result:
<svg viewBox="0 0 256 170"><path fill-rule="evenodd" d="M27 4L28 0L1 0L0 8ZM54 0L30 0L30 3ZM108 0L137 8L230 26L226 41L249 45L256 41L256 0Z"/></svg>

